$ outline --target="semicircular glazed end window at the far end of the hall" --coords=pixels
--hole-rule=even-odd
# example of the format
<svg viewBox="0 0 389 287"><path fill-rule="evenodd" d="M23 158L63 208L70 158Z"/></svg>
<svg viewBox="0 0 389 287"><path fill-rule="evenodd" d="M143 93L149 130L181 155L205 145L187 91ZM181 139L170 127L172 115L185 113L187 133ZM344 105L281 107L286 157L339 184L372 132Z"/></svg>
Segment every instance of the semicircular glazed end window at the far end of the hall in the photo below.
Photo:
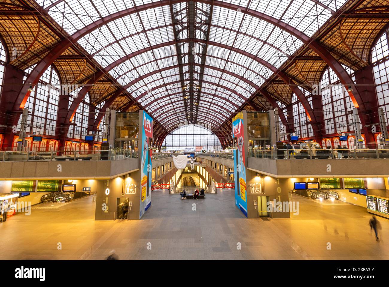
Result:
<svg viewBox="0 0 389 287"><path fill-rule="evenodd" d="M209 129L189 124L166 136L162 144L166 151L215 151L222 149L217 136Z"/></svg>

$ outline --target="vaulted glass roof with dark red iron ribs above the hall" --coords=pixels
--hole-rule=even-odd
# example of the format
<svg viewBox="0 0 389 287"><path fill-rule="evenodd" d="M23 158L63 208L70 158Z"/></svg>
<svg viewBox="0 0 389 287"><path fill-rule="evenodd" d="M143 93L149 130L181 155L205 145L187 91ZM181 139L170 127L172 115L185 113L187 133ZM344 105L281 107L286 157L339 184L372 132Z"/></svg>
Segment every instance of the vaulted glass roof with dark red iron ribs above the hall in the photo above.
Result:
<svg viewBox="0 0 389 287"><path fill-rule="evenodd" d="M217 129L345 0L37 2L166 129Z"/></svg>

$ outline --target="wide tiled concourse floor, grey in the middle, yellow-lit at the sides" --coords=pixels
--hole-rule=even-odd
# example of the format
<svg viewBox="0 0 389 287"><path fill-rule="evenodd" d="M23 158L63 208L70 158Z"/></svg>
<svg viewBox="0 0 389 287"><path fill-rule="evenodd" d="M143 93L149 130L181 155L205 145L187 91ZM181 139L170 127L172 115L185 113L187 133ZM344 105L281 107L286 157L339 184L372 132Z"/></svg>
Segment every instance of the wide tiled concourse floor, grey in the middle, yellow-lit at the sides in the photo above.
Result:
<svg viewBox="0 0 389 287"><path fill-rule="evenodd" d="M104 259L112 249L120 259L389 259L389 220L378 218L377 242L366 209L293 200L298 216L258 220L244 218L233 191L205 200L153 192L142 220L95 221L87 197L0 223L0 259Z"/></svg>

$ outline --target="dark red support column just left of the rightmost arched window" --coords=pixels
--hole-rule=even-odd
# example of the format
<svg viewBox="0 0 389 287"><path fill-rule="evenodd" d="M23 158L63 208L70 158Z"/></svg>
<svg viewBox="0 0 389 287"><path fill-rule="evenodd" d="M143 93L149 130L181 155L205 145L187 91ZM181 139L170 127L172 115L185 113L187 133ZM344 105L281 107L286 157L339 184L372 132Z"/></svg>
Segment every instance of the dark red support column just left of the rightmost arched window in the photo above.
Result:
<svg viewBox="0 0 389 287"><path fill-rule="evenodd" d="M365 135L366 147L370 149L377 148L374 133L371 132L371 125L376 124L378 128L378 100L377 92L374 86L373 69L366 66L363 69L355 72L355 82L357 84L359 94L364 100L366 110L358 109L359 118L365 125L362 126L362 132Z"/></svg>

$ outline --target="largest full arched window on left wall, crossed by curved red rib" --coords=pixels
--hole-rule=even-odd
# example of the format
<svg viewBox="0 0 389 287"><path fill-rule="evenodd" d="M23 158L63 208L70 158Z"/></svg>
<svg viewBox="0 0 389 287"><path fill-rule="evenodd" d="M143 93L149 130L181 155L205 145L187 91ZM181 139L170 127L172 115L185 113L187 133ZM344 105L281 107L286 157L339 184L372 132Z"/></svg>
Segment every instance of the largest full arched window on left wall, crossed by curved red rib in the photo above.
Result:
<svg viewBox="0 0 389 287"><path fill-rule="evenodd" d="M26 69L25 80L33 67ZM25 108L28 108L27 133L40 135L55 135L58 116L58 102L60 100L60 78L50 66L40 77L38 85L27 99ZM20 130L21 117L18 122Z"/></svg>

